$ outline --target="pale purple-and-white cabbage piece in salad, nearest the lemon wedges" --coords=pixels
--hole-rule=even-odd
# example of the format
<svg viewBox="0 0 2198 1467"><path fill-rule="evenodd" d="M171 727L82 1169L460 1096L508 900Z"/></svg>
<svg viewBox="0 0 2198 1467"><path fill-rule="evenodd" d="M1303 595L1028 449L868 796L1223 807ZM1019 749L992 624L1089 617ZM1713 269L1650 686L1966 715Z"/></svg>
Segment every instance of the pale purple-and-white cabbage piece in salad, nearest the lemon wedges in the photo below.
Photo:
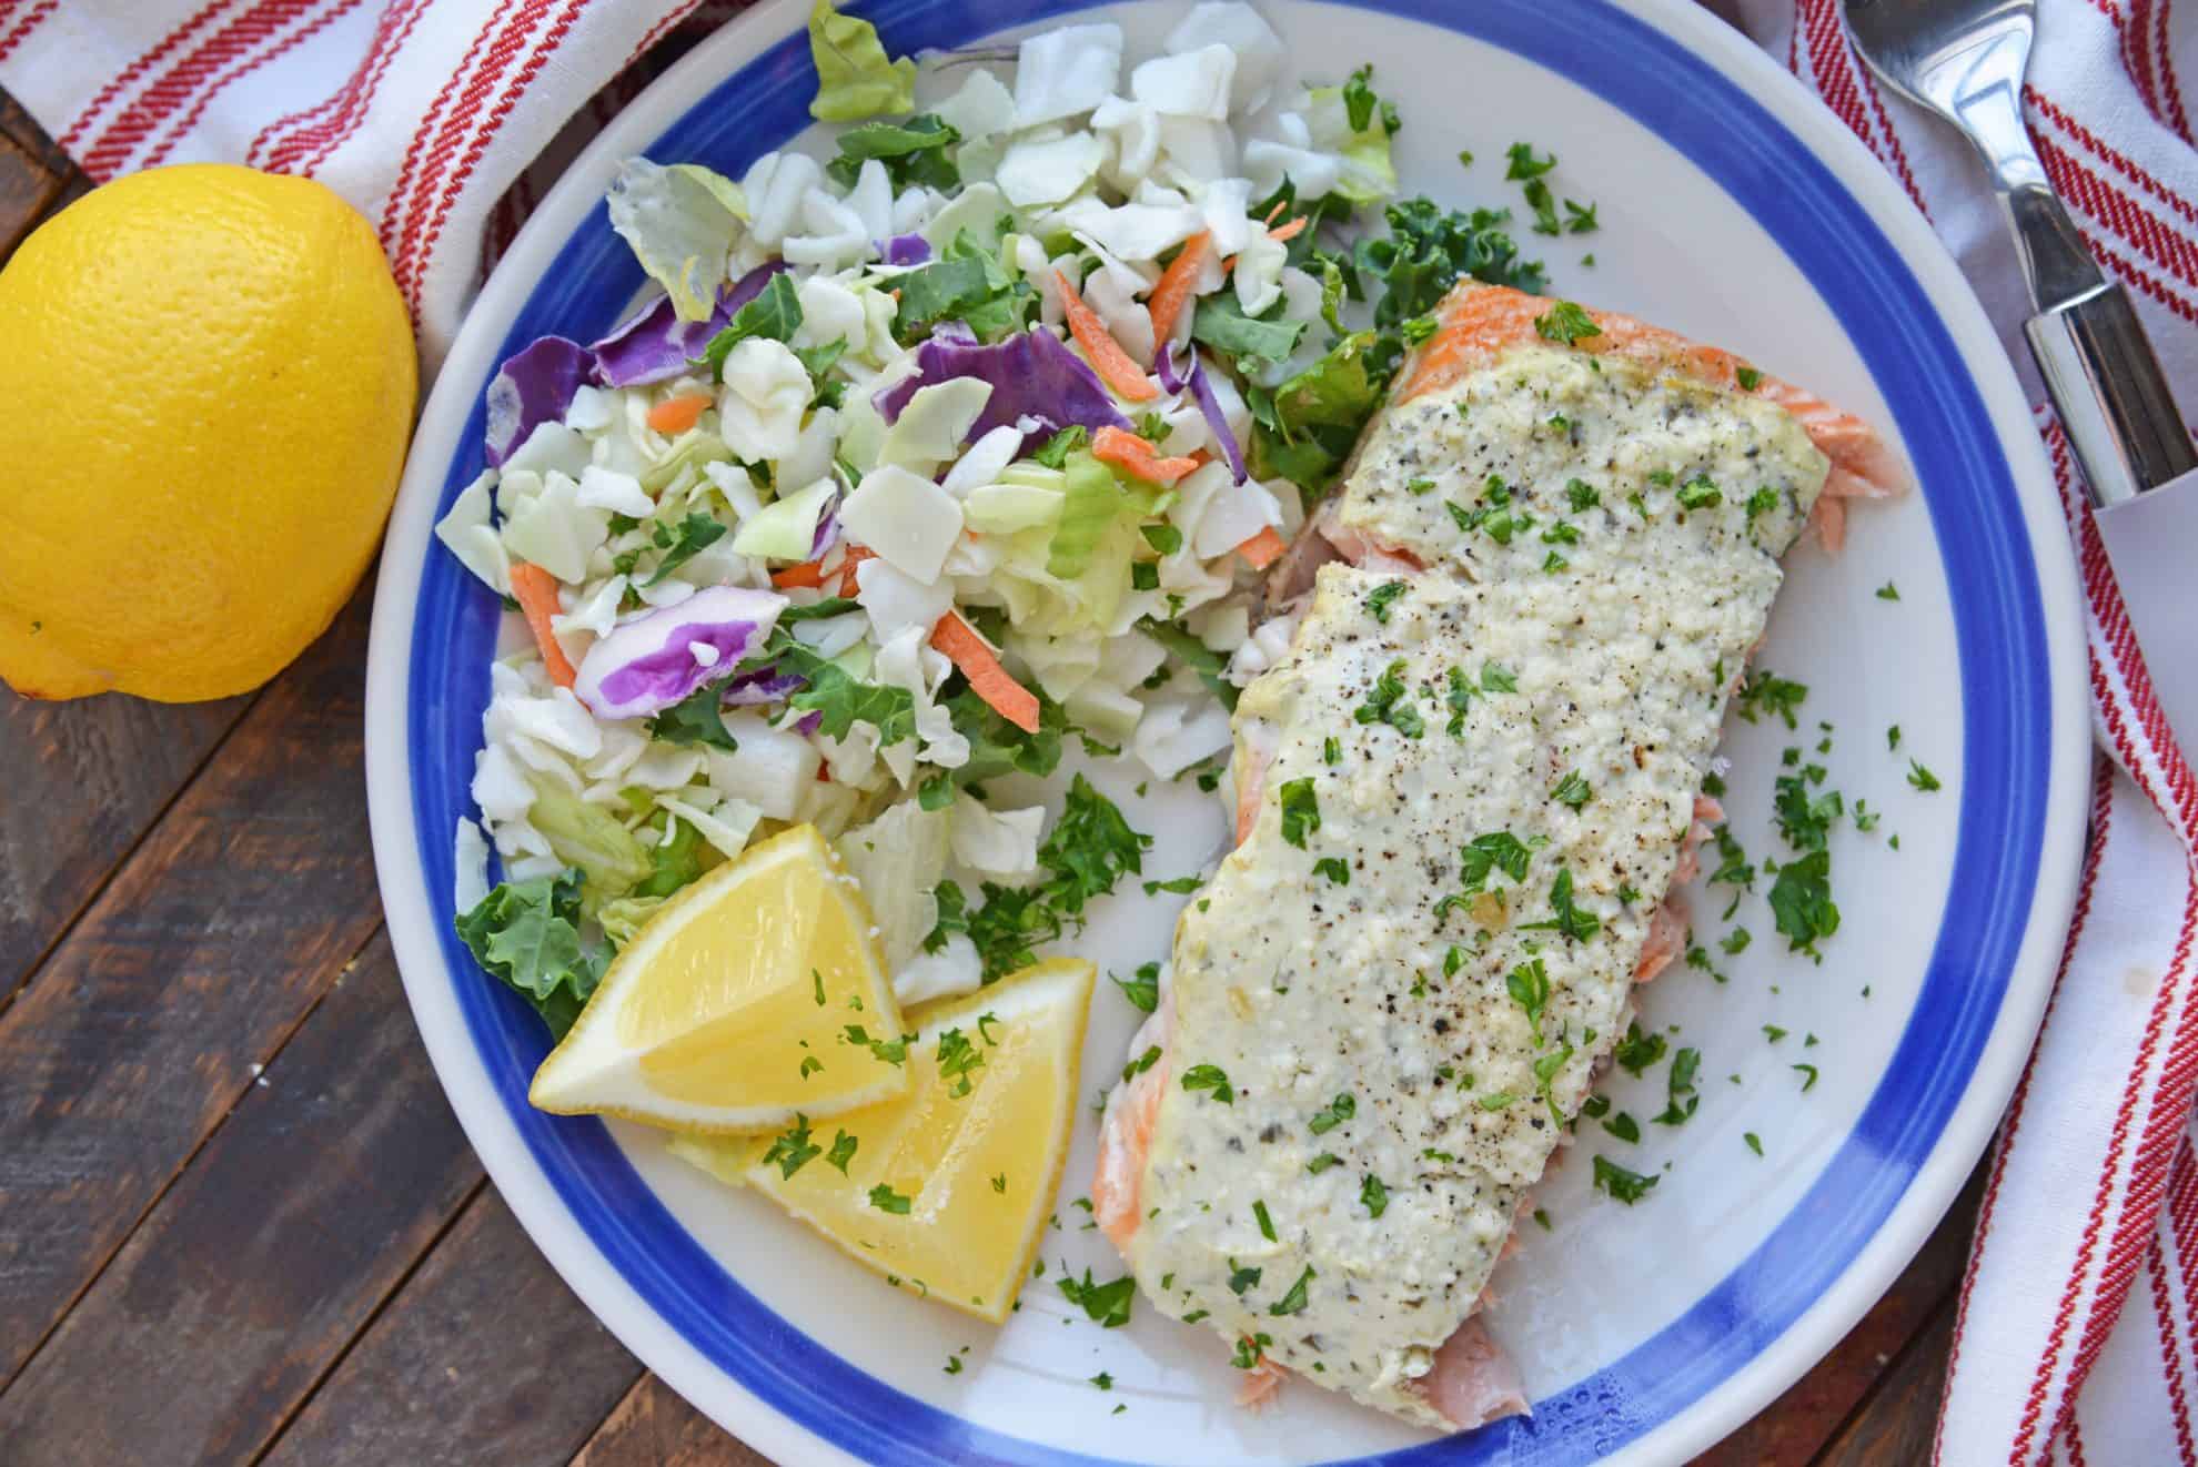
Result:
<svg viewBox="0 0 2198 1467"><path fill-rule="evenodd" d="M662 714L697 687L730 676L771 635L787 597L710 586L600 639L580 659L574 696L598 718ZM717 652L706 663L695 648Z"/></svg>

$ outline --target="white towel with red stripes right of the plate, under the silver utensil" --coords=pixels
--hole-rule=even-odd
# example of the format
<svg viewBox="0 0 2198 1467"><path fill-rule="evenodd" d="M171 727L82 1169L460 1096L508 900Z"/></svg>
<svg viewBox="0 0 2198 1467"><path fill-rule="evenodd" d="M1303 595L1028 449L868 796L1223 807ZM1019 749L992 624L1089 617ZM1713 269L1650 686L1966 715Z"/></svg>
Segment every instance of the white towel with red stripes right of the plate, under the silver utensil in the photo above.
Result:
<svg viewBox="0 0 2198 1467"><path fill-rule="evenodd" d="M2024 108L2046 176L2198 419L2198 149L2180 81L2198 11L2183 15L2169 0L2040 0ZM2110 751L2060 986L1991 1153L1936 1460L2198 1467L2198 786L2042 402L2022 275L1967 143L1877 86L1835 0L1739 0L1739 22L1899 178L2000 327L2077 547ZM2198 747L2198 729L2185 736Z"/></svg>

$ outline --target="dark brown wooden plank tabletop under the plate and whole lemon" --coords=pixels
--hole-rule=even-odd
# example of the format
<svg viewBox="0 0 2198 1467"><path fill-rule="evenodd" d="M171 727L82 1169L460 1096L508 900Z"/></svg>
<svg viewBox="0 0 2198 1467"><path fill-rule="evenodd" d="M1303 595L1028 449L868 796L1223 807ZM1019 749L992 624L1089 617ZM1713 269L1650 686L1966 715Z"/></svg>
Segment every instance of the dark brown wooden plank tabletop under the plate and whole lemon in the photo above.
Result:
<svg viewBox="0 0 2198 1467"><path fill-rule="evenodd" d="M0 97L0 259L84 187ZM251 696L0 687L0 1460L761 1463L550 1272L429 1070L367 848L369 593ZM1701 1463L1925 1460L1976 1195Z"/></svg>

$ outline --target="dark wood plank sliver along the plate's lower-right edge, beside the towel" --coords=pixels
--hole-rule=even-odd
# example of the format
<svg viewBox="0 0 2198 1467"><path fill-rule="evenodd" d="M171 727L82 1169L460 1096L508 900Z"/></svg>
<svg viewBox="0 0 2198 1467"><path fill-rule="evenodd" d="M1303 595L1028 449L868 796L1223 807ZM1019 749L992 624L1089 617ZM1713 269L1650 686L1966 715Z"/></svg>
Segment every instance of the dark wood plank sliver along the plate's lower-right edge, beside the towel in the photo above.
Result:
<svg viewBox="0 0 2198 1467"><path fill-rule="evenodd" d="M1954 1296L1969 1256L1983 1186L1985 1164L1978 1162L1908 1269L1831 1355L1754 1421L1697 1456L1695 1467L1798 1467L1813 1458Z"/></svg>

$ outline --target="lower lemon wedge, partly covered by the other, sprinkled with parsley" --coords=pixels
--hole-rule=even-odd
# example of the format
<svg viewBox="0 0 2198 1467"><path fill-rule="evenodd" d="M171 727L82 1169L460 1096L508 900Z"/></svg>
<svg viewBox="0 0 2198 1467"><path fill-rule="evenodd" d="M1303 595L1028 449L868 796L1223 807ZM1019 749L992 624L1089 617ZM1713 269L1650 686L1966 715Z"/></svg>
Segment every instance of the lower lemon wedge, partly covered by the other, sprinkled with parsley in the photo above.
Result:
<svg viewBox="0 0 2198 1467"><path fill-rule="evenodd" d="M1068 1160L1092 977L1055 960L925 1004L906 1096L673 1151L767 1192L888 1283L1002 1324Z"/></svg>

